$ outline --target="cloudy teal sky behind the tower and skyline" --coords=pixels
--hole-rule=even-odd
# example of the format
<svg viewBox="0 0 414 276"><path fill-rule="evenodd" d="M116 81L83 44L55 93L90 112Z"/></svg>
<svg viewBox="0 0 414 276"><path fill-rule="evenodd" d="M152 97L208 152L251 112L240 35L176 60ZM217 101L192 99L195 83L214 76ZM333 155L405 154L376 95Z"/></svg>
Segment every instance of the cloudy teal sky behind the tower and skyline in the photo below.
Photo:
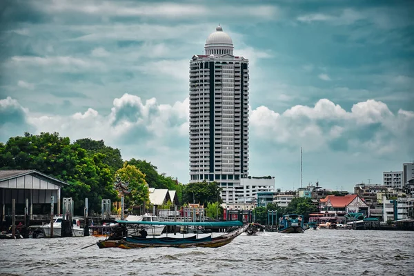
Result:
<svg viewBox="0 0 414 276"><path fill-rule="evenodd" d="M188 74L250 62L249 175L353 191L414 160L413 1L0 2L0 141L90 137L189 180Z"/></svg>

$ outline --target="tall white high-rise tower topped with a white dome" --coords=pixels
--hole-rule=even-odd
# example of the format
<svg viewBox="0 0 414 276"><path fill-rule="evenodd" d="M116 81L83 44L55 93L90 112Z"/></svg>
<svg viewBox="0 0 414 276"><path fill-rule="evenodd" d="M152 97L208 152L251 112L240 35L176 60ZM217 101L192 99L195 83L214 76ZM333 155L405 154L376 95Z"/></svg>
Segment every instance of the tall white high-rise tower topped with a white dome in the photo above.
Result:
<svg viewBox="0 0 414 276"><path fill-rule="evenodd" d="M218 26L190 60L190 182L217 181L228 203L248 176L248 59L233 48Z"/></svg>

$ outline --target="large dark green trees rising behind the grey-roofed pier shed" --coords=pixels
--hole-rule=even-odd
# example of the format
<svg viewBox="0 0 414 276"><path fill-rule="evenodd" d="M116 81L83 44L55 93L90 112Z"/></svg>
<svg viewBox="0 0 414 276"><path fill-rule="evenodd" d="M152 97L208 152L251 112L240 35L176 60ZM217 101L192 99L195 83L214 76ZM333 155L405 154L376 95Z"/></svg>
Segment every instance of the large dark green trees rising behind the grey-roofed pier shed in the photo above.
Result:
<svg viewBox="0 0 414 276"><path fill-rule="evenodd" d="M102 197L116 199L112 188L112 173L103 164L104 155L89 154L78 144L70 144L59 133L11 137L0 145L1 169L38 170L66 181L61 197L72 197L75 214L83 214L84 199L88 197L90 211L100 210Z"/></svg>

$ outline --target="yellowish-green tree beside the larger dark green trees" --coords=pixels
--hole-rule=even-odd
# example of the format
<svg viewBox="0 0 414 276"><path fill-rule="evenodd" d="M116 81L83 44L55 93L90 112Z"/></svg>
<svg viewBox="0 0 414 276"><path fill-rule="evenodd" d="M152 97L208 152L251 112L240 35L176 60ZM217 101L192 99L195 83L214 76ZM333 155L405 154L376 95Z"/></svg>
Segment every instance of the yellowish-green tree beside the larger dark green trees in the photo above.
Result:
<svg viewBox="0 0 414 276"><path fill-rule="evenodd" d="M128 204L131 206L141 206L149 203L148 185L141 170L124 162L124 166L117 170L115 177L119 177L121 181L128 182L130 193L125 196L128 199Z"/></svg>

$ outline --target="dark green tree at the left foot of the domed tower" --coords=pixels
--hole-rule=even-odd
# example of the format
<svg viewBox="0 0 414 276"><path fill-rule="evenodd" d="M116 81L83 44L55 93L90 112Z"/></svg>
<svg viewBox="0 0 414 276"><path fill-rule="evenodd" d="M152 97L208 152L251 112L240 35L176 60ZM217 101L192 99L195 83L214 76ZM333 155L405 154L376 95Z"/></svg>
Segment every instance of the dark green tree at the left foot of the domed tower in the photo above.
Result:
<svg viewBox="0 0 414 276"><path fill-rule="evenodd" d="M184 186L183 190L183 203L199 203L204 207L207 206L208 202L218 201L220 204L223 203L220 197L221 188L217 182L195 182Z"/></svg>

